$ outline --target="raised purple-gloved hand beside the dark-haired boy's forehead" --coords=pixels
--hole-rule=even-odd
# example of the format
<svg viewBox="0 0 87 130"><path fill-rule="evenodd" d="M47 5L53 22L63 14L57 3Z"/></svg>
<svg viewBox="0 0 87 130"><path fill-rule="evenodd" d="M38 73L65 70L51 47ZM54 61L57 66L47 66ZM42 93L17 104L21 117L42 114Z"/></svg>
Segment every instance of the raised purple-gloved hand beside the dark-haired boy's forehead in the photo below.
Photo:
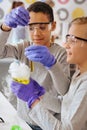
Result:
<svg viewBox="0 0 87 130"><path fill-rule="evenodd" d="M4 23L11 28L16 28L17 25L26 26L29 23L29 12L22 6L12 9L6 15Z"/></svg>

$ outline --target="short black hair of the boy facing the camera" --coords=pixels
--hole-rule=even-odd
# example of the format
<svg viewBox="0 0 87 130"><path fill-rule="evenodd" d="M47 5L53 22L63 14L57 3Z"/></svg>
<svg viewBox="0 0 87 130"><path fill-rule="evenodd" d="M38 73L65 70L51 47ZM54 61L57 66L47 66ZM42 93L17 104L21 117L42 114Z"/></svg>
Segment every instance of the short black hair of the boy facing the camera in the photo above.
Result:
<svg viewBox="0 0 87 130"><path fill-rule="evenodd" d="M29 12L33 11L35 13L42 12L44 14L47 14L50 22L54 21L53 9L51 8L51 6L49 6L48 4L44 2L41 2L41 1L34 2L27 8L27 10Z"/></svg>

